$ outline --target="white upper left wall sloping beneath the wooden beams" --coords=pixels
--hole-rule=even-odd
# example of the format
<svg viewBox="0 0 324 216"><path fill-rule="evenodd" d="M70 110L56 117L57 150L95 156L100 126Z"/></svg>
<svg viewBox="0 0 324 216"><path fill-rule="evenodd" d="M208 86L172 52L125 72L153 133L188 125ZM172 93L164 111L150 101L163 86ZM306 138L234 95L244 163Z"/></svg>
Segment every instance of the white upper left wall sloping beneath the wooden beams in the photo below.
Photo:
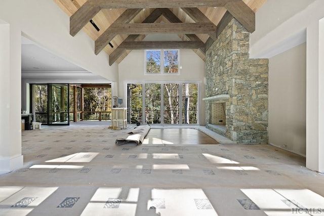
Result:
<svg viewBox="0 0 324 216"><path fill-rule="evenodd" d="M94 54L94 41L85 32L72 37L69 17L53 1L2 0L0 19L51 53L108 80L117 80L117 65L110 67L104 52Z"/></svg>

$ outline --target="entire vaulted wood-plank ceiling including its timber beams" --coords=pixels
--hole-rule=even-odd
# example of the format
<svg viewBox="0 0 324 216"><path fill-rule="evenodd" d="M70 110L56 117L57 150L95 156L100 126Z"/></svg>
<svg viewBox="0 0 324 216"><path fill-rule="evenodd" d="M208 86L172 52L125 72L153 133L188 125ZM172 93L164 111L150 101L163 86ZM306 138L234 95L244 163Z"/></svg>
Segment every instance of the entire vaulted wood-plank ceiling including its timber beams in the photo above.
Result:
<svg viewBox="0 0 324 216"><path fill-rule="evenodd" d="M109 65L138 49L192 49L205 52L234 17L249 32L255 12L267 0L54 0L70 17L70 34L85 31L94 52L106 52ZM179 40L143 41L149 34L177 34Z"/></svg>

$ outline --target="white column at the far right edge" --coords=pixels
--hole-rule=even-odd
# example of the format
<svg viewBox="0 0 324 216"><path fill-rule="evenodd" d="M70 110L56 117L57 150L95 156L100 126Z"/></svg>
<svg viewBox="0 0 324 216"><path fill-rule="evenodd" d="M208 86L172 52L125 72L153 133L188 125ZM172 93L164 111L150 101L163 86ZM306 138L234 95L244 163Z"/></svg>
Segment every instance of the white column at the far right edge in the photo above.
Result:
<svg viewBox="0 0 324 216"><path fill-rule="evenodd" d="M306 167L324 172L324 19L307 27Z"/></svg>

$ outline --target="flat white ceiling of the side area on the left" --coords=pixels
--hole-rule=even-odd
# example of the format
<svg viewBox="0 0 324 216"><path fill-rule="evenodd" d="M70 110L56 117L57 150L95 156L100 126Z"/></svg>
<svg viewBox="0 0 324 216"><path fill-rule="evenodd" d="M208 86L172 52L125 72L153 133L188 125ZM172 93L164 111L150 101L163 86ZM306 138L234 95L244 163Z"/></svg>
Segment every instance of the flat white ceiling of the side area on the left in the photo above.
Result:
<svg viewBox="0 0 324 216"><path fill-rule="evenodd" d="M107 80L43 49L22 36L21 77L27 82L106 83Z"/></svg>

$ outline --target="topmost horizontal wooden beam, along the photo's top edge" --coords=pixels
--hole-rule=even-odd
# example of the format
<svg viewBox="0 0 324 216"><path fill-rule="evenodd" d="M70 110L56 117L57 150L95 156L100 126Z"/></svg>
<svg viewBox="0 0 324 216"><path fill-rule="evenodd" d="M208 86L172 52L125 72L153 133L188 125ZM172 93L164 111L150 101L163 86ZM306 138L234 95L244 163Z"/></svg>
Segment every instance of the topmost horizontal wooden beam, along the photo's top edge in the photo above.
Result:
<svg viewBox="0 0 324 216"><path fill-rule="evenodd" d="M239 0L88 0L87 3L102 8L198 8L224 7Z"/></svg>

